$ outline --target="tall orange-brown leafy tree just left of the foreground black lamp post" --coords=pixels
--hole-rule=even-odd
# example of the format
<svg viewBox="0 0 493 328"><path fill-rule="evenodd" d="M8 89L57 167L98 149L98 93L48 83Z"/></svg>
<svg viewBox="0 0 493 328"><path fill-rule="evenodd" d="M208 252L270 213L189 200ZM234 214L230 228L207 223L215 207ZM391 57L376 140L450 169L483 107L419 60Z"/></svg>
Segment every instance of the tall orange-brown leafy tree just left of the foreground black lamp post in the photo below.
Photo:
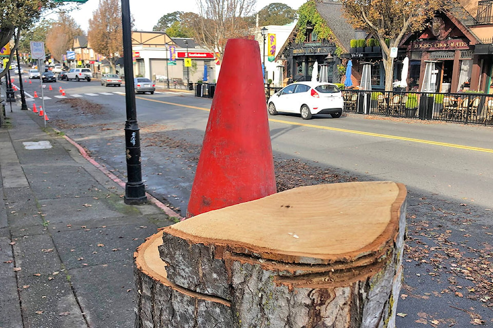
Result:
<svg viewBox="0 0 493 328"><path fill-rule="evenodd" d="M88 41L94 51L108 59L115 70L123 53L122 11L119 0L100 0L89 19Z"/></svg>

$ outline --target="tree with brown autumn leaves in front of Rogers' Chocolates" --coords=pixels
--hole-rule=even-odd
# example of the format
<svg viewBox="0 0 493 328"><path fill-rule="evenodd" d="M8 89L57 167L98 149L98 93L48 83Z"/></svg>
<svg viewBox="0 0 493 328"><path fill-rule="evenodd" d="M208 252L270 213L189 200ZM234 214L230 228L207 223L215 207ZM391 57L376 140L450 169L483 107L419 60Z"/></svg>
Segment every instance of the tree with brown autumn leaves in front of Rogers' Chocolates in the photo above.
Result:
<svg viewBox="0 0 493 328"><path fill-rule="evenodd" d="M448 0L342 0L345 16L355 28L365 29L380 41L385 69L385 90L392 90L393 58L406 33L423 29L439 9L450 8ZM385 39L389 39L387 44Z"/></svg>

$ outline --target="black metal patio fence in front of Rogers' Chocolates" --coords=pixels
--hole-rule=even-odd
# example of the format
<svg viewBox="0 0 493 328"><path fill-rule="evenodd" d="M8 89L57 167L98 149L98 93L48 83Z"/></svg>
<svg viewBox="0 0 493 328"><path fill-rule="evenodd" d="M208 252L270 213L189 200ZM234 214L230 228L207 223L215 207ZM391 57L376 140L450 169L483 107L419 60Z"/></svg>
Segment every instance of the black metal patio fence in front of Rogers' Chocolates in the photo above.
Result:
<svg viewBox="0 0 493 328"><path fill-rule="evenodd" d="M493 95L343 90L346 112L493 125Z"/></svg>

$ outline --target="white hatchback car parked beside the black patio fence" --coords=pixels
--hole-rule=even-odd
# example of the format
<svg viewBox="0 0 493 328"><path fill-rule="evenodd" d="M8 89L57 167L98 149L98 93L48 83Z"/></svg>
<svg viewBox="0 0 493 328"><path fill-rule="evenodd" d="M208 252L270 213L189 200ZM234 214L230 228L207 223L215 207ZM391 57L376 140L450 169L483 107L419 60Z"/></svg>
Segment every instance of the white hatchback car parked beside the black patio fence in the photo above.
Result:
<svg viewBox="0 0 493 328"><path fill-rule="evenodd" d="M315 114L343 114L343 94L336 85L323 82L296 82L274 93L267 102L270 115L299 113L302 119Z"/></svg>

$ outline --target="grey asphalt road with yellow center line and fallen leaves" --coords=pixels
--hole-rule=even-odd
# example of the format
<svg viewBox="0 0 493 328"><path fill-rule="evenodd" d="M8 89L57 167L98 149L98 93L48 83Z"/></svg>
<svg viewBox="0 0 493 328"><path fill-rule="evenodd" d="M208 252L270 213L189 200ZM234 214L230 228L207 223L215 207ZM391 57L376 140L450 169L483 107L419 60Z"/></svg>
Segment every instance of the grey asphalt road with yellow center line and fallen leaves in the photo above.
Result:
<svg viewBox="0 0 493 328"><path fill-rule="evenodd" d="M39 94L35 83L26 86ZM49 125L126 180L124 88L63 81L53 89L45 100ZM211 100L165 92L138 95L136 104L147 190L184 213ZM269 118L277 160L321 168L293 172L327 169L358 180L406 184L408 237L397 326L493 326L490 127L358 114Z"/></svg>

